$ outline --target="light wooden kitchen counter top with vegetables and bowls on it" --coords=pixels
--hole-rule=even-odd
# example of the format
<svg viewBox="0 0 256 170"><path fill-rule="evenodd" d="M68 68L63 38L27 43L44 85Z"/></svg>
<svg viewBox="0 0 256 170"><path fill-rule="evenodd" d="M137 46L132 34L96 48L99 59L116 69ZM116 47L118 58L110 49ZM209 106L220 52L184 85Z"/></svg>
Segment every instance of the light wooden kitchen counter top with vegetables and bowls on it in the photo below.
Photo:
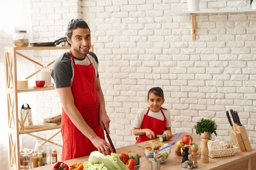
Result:
<svg viewBox="0 0 256 170"><path fill-rule="evenodd" d="M173 135L173 138L177 135L178 133ZM182 132L182 134L176 139L174 144L172 145L171 153L168 157L168 159L164 162L161 163L161 170L169 170L174 169L174 170L185 170L186 168L181 167L181 162L182 162L182 157L176 156L174 154L174 150L176 148L175 143L179 140L182 139L184 135L191 135L193 137L193 142L198 144L198 146L201 143L201 137L197 134L191 134L191 133L186 133ZM171 140L168 142L171 143ZM121 148L117 148L117 153L120 152L120 150L130 150L132 152L138 153L141 155L141 168L140 170L150 170L151 169L151 163L146 160L144 157L144 150L142 148L139 148L138 144L132 144L129 146L124 146ZM200 148L198 150L200 152ZM201 155L200 155L201 156ZM228 156L228 157L219 157L219 158L211 158L209 157L209 163L201 163L200 162L200 156L197 157L198 161L198 168L194 168L195 170L255 170L256 169L256 150L253 149L252 151L249 152L241 152L239 149L233 156ZM85 157L79 157L76 159L70 159L67 161L64 161L64 163L67 163L67 165L71 165L72 163L75 162L84 162L88 161L89 156ZM34 170L51 170L53 164L47 164L46 166L41 166L38 168L34 168Z"/></svg>

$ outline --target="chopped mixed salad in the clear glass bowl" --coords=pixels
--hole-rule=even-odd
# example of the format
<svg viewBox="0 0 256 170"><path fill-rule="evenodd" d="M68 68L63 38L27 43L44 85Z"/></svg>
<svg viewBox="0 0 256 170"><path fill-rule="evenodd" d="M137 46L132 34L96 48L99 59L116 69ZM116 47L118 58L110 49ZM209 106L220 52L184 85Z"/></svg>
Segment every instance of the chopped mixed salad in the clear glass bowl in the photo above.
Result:
<svg viewBox="0 0 256 170"><path fill-rule="evenodd" d="M148 161L152 161L153 157L146 157L147 155L151 155L154 153L154 149L156 148L157 151L161 148L164 148L169 144L159 143L159 142L150 142L148 144L143 145L141 148L144 149L144 156ZM168 148L165 148L164 150L157 153L157 158L159 159L160 163L163 163L167 160L171 152L171 146Z"/></svg>

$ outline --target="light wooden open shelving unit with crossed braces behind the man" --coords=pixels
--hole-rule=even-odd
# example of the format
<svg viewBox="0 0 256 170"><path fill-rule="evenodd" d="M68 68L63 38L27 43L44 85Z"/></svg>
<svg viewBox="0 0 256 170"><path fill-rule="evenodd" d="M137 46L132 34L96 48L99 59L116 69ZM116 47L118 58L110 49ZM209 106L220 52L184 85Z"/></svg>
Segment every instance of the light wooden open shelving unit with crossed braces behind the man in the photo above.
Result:
<svg viewBox="0 0 256 170"><path fill-rule="evenodd" d="M57 126L43 126L37 129L25 129L20 131L19 129L19 111L20 108L18 106L18 93L24 92L39 92L45 90L54 90L54 86L49 86L45 88L33 88L28 87L27 89L18 89L17 85L17 57L23 57L36 65L39 65L43 68L43 65L34 59L31 59L20 51L27 50L63 50L65 52L67 49L70 49L70 46L60 46L60 47L4 47L4 65L5 65L5 86L6 86L6 99L7 99L7 112L8 112L8 133L9 133L9 150L8 150L8 159L9 159L9 169L20 170L20 138L19 135L27 134L32 137L36 137L40 139L45 144L49 142L54 145L61 146L61 144L57 144L52 142L51 139L56 136L61 130L57 131L57 133L53 134L48 139L44 139L32 133L40 132L40 131L48 131L53 129L60 129L61 125ZM49 62L47 66L52 65L55 60ZM41 69L40 68L40 69ZM32 76L36 75L40 72L40 69L36 70L34 73L28 75L25 79L29 79ZM42 144L42 145L43 145Z"/></svg>

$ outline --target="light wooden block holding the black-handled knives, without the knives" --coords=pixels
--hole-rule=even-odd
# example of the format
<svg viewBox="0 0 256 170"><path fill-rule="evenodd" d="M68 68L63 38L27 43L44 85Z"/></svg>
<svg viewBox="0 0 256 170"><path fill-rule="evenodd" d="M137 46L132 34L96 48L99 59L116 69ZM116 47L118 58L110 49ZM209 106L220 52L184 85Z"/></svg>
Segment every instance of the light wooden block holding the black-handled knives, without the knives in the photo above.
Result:
<svg viewBox="0 0 256 170"><path fill-rule="evenodd" d="M233 144L237 145L241 152L252 151L252 146L245 130L245 126L238 126L237 124L234 124L233 128L234 131L232 129L229 130Z"/></svg>

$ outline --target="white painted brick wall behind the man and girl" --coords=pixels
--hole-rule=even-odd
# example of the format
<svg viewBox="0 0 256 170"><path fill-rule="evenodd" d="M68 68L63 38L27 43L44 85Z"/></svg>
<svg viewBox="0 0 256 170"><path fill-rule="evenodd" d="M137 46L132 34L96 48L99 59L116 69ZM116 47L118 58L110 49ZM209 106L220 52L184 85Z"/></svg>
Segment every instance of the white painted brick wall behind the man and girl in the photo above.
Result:
<svg viewBox="0 0 256 170"><path fill-rule="evenodd" d="M195 133L193 125L197 121L213 117L219 125L215 138L229 141L230 126L225 111L233 109L238 111L252 147L256 148L256 14L196 16L193 41L191 17L173 13L186 11L186 1L30 2L34 42L63 37L73 18L88 22L111 119L110 135L117 148L135 143L131 131L133 120L137 110L146 106L148 89L155 86L164 89L164 107L171 111L173 133ZM235 9L250 7L246 0L200 2L201 11ZM11 42L8 37L0 45L6 46L7 42ZM34 55L48 62L59 53ZM56 92L43 95L43 98L38 96L42 107L37 112L61 113ZM52 132L40 135L45 137L49 133ZM61 142L61 135L54 141ZM49 150L53 146L46 147Z"/></svg>

